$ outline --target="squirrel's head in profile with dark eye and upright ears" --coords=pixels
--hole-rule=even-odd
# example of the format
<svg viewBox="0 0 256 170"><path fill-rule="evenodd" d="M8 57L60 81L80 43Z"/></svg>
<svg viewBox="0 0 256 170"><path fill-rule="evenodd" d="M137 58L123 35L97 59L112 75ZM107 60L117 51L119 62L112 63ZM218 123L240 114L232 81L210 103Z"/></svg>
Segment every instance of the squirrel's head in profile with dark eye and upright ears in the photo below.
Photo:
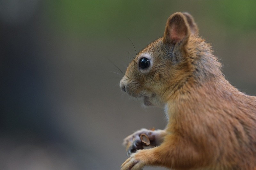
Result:
<svg viewBox="0 0 256 170"><path fill-rule="evenodd" d="M129 64L120 81L121 89L135 98L143 98L145 106L164 107L171 96L186 91L187 84L193 85L200 76L207 76L204 72L209 68L204 70L207 64L202 62L212 58L218 70L220 64L211 55L211 47L197 35L198 28L190 14L172 14L164 36L151 42ZM210 59L201 61L200 56L206 53Z"/></svg>

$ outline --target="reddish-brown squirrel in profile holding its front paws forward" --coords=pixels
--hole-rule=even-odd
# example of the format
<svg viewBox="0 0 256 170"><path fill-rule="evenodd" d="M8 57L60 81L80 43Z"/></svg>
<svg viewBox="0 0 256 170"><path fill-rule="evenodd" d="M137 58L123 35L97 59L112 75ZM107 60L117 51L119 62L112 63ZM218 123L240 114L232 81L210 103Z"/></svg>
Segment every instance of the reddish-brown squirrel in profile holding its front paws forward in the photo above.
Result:
<svg viewBox="0 0 256 170"><path fill-rule="evenodd" d="M168 123L126 137L132 147L121 170L256 169L256 97L232 86L221 66L189 13L168 18L164 36L137 54L120 81L145 106L164 108ZM153 148L140 147L142 133Z"/></svg>

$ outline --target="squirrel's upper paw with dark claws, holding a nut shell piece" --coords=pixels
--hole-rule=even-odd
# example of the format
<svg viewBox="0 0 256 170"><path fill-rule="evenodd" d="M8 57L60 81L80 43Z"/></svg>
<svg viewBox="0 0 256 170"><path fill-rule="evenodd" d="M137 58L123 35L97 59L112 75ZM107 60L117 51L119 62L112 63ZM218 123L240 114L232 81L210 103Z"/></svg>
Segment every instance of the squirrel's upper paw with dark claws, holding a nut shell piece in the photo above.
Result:
<svg viewBox="0 0 256 170"><path fill-rule="evenodd" d="M148 129L140 129L134 132L132 135L129 135L124 139L123 145L126 146L126 155L130 156L132 153L135 153L139 149L145 149L147 146L145 143L141 141L140 135L145 134L147 135L150 141L150 147L156 146L155 143L155 136L156 133L154 130Z"/></svg>

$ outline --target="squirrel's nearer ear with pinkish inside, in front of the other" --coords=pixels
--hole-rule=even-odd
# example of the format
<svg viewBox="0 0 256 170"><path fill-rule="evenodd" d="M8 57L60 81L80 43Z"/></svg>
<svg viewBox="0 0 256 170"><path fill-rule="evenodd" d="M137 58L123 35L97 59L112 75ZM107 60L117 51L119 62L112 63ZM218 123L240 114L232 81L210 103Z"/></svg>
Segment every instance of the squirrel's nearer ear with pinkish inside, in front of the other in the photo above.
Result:
<svg viewBox="0 0 256 170"><path fill-rule="evenodd" d="M166 23L163 42L166 44L186 44L190 35L187 18L181 12L172 14Z"/></svg>

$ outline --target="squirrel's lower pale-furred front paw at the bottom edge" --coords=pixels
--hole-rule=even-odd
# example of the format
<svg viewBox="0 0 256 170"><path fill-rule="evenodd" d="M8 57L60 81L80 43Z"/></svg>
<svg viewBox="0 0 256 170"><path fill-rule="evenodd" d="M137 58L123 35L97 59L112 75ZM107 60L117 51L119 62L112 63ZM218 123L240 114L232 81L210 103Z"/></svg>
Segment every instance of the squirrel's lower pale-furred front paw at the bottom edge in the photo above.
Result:
<svg viewBox="0 0 256 170"><path fill-rule="evenodd" d="M137 158L137 153L133 153L122 165L121 170L140 170L145 166L145 163Z"/></svg>

